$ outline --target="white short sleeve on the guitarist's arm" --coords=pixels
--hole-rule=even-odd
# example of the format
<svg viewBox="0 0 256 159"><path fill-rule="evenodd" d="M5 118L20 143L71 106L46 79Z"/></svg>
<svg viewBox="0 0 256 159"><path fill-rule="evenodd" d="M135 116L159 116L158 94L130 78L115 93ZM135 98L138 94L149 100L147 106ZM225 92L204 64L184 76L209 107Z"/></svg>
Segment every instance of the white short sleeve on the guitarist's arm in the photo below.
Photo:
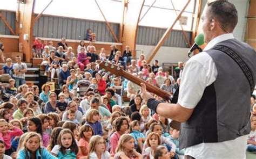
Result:
<svg viewBox="0 0 256 159"><path fill-rule="evenodd" d="M194 109L203 96L206 86L213 83L217 77L217 68L207 53L200 53L186 63L179 88L178 103Z"/></svg>

